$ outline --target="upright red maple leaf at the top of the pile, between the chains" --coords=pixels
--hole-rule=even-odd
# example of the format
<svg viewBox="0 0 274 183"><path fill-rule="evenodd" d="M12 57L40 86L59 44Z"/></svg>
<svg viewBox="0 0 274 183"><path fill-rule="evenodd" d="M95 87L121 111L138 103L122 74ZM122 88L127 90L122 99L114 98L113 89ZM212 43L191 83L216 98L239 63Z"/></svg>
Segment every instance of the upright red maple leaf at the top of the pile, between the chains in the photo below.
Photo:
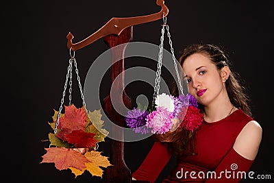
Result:
<svg viewBox="0 0 274 183"><path fill-rule="evenodd" d="M86 126L86 110L82 108L76 108L73 104L70 106L64 106L64 117L60 117L58 129L70 134L73 130L84 130Z"/></svg>

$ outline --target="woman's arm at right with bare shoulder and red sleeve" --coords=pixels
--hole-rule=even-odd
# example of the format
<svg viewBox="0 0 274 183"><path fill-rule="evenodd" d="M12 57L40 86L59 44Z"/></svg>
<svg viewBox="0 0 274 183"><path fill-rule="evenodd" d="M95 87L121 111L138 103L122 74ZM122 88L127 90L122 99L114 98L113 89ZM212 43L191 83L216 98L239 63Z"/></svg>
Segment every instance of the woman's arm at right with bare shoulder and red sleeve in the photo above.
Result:
<svg viewBox="0 0 274 183"><path fill-rule="evenodd" d="M261 140L262 127L256 121L249 121L238 134L233 148L214 170L216 177L208 178L206 183L236 183L248 178L247 171L258 154Z"/></svg>

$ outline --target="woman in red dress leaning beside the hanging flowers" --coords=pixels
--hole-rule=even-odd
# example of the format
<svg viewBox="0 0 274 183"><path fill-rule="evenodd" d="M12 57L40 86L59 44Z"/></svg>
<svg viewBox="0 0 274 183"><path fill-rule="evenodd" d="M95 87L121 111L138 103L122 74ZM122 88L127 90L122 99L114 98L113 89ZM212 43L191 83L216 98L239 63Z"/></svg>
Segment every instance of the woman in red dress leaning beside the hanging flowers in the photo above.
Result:
<svg viewBox="0 0 274 183"><path fill-rule="evenodd" d="M251 117L245 88L229 69L227 56L214 45L191 45L182 51L179 62L189 92L203 112L203 123L196 132L178 127L156 135L158 141L133 179L155 182L173 155L177 164L163 182L224 183L248 178L262 128Z"/></svg>

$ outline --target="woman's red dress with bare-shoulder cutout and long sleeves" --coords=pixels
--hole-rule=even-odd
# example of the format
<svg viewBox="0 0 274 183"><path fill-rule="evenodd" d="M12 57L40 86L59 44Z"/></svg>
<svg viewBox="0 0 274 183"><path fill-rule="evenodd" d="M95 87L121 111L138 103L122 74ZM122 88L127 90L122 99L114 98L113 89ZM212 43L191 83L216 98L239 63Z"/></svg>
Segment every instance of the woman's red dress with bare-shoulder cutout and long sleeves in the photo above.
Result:
<svg viewBox="0 0 274 183"><path fill-rule="evenodd" d="M253 119L241 109L225 119L203 121L196 132L196 155L183 156L162 183L171 182L240 182L248 178L254 160L240 156L232 147L243 127ZM153 183L171 158L166 144L155 142L132 177Z"/></svg>

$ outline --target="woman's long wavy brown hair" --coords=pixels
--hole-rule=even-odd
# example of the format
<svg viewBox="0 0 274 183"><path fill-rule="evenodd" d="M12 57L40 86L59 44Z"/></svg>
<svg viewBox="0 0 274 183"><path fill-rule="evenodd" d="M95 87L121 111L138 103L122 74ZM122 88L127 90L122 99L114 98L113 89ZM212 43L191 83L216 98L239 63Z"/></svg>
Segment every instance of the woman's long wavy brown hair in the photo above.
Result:
<svg viewBox="0 0 274 183"><path fill-rule="evenodd" d="M216 69L219 71L224 66L231 66L231 62L228 60L228 56L216 45L190 45L181 52L179 57L179 63L184 63L184 60L194 53L203 53L208 56L212 63L216 65ZM231 103L236 107L242 109L246 114L251 116L251 109L249 107L249 97L246 94L246 89L240 84L240 77L238 73L234 73L230 68L230 74L225 82L225 88ZM174 84L171 89L172 95L179 95L177 85ZM203 106L199 105L199 108L203 112ZM166 134L155 135L156 141L169 143L169 149L175 156L182 156L186 154L195 154L195 131L190 132L183 130L181 127L177 127L174 132L168 132Z"/></svg>

